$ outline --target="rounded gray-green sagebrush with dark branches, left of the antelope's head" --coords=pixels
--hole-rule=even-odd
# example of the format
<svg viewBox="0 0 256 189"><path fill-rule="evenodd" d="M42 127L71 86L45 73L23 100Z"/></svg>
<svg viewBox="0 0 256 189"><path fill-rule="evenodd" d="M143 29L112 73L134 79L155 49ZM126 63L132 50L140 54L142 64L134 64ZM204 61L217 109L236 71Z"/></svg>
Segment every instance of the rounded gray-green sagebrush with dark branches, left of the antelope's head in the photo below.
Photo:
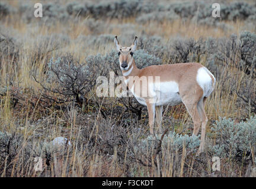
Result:
<svg viewBox="0 0 256 189"><path fill-rule="evenodd" d="M84 96L94 87L98 76L96 67L80 63L71 54L59 57L55 61L51 58L48 67L48 82L57 83L49 90L67 97L73 96L77 102L79 102L79 94Z"/></svg>

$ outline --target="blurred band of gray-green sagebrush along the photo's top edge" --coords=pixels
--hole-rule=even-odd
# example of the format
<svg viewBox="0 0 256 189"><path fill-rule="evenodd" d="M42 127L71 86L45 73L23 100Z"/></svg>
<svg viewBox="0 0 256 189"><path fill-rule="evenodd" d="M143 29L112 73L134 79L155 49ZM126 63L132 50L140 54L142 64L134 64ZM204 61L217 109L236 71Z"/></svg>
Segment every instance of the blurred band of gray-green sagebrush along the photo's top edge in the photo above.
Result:
<svg viewBox="0 0 256 189"><path fill-rule="evenodd" d="M9 14L14 9L11 5L0 4L0 12L3 15ZM44 17L40 20L66 21L74 17L91 18L129 18L139 17L137 21L145 22L155 19L175 19L177 15L183 19L191 19L199 21L198 23L206 23L208 25L216 25L216 22L237 19L247 19L256 15L255 5L247 2L231 2L221 4L221 19L212 18L212 1L185 1L185 2L155 2L143 0L121 0L121 1L75 1L68 4L47 3L43 6ZM33 4L20 4L18 8L21 17L30 21L33 17ZM24 16L25 15L25 16ZM211 17L211 19L209 19ZM178 17L177 17L178 18ZM34 19L36 20L36 19ZM200 20L204 20L200 22ZM207 21L210 22L207 22ZM37 19L38 21L38 19Z"/></svg>

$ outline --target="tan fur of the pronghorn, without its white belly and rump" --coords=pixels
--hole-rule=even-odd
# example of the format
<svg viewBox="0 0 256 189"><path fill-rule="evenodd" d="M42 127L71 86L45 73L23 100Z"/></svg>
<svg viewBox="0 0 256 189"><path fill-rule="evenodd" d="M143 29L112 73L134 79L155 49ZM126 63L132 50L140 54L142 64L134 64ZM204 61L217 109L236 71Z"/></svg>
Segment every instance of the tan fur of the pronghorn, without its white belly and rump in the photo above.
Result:
<svg viewBox="0 0 256 189"><path fill-rule="evenodd" d="M117 38L116 38L117 41ZM136 38L135 38L136 41ZM118 41L116 44L119 45ZM130 48L135 48L135 42ZM206 97L203 96L203 89L197 83L197 71L203 67L199 63L179 63L179 64L166 64L161 66L148 66L144 69L137 69L135 60L130 56L130 48L128 47L121 47L121 54L119 57L120 65L123 60L131 61L132 64L130 65L128 70L123 70L124 80L128 80L130 76L137 76L137 79L130 81L127 86L129 89L130 86L136 86L139 84L139 79L143 76L159 76L160 82L176 82L178 84L178 93L180 94L180 98L184 103L185 107L187 108L188 113L190 114L191 118L193 119L194 123L194 130L193 135L197 135L199 133L199 129L201 126L201 144L199 147L199 151L197 155L203 151L204 143L205 143L205 136L206 136L206 125L207 125L207 116L204 111L204 105ZM132 70L130 70L132 69ZM126 76L127 73L130 73ZM209 73L208 73L209 74ZM210 75L212 80L212 86L214 87L215 78ZM154 82L154 81L153 81ZM136 93L136 96L142 97L142 91L145 90L143 87L148 86L141 86L139 93ZM130 89L132 90L132 89ZM155 114L156 114L156 123L158 125L158 132L162 132L161 122L162 122L162 106L156 106L149 102L148 97L143 97L146 101L146 106L148 107L149 113L149 126L150 126L150 133L153 135L153 125L155 122Z"/></svg>

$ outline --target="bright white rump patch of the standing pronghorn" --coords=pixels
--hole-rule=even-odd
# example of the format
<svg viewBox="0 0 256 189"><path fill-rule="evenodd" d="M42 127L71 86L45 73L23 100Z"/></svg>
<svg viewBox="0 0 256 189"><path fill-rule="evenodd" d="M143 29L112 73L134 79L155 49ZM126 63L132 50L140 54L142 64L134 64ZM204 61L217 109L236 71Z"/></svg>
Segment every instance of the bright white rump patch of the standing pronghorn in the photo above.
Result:
<svg viewBox="0 0 256 189"><path fill-rule="evenodd" d="M203 89L203 97L208 97L210 93L213 92L214 86L212 86L212 78L210 75L213 76L212 73L206 67L200 67L197 70L197 83ZM215 84L215 77L213 76L214 84Z"/></svg>

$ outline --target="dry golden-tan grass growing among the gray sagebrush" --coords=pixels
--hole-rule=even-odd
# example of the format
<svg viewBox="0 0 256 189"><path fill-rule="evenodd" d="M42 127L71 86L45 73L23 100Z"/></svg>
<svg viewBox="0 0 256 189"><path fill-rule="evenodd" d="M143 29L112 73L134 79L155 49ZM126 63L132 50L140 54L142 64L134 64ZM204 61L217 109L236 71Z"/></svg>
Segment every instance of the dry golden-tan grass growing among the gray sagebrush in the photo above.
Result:
<svg viewBox="0 0 256 189"><path fill-rule="evenodd" d="M36 2L36 1L34 1ZM11 1L9 4L17 6L17 1ZM26 164L24 164L23 158L25 159L25 152L23 150L18 151L11 162L5 159L5 166L0 172L2 177L126 177L126 176L137 176L137 177L198 177L211 175L210 165L211 157L206 159L196 159L191 157L189 162L185 162L185 148L182 151L181 164L180 157L177 154L165 154L166 157L162 159L168 159L166 165L162 165L162 170L159 167L152 166L146 167L139 162L134 162L130 165L129 171L127 171L126 161L129 159L124 158L124 162L120 163L117 158L117 152L114 151L113 155L105 155L98 152L96 149L87 152L85 149L89 148L89 142L81 144L81 132L92 133L94 131L87 131L87 126L84 123L92 123L95 129L95 136L101 135L99 127L101 122L105 122L101 118L100 112L90 112L87 109L87 114L81 122L78 113L75 110L60 111L56 109L44 109L40 105L39 89L41 86L35 82L31 73L37 70L37 78L43 79L45 77L44 69L49 61L49 57L58 57L60 54L70 52L73 56L85 60L88 55L91 54L105 54L110 52L114 48L114 44L101 44L100 47L96 48L88 46L84 48L82 45L85 41L76 41L79 35L93 35L94 32L90 31L89 28L84 24L88 18L81 18L76 22L69 21L66 23L57 21L53 25L46 25L40 22L33 22L27 24L23 19L19 19L18 15L11 15L5 19L1 19L2 28L14 38L23 41L20 46L18 59L10 61L8 57L2 58L1 61L1 85L9 82L15 83L15 86L19 87L19 92L23 94L23 100L15 107L11 107L11 89L7 90L7 94L2 97L1 108L0 108L0 131L13 133L14 131L23 135L23 144L27 145L33 140L33 149L36 149L37 141L51 141L57 136L65 136L72 141L72 146L68 149L63 149L65 154L55 154L52 157L50 164L46 165L47 158L43 158L43 173L40 171L34 171L34 157L29 157ZM137 24L135 18L117 20L107 19L105 21L108 25L114 24L133 24L135 25L136 35L140 36L143 33L148 35L159 35L166 41L177 36L183 38L195 38L198 40L200 37L214 37L223 38L228 37L232 33L239 34L244 30L245 23L242 21L227 22L233 27L232 30L222 30L221 28L207 27L204 25L195 25L191 22L183 22L178 19L174 22L164 21L162 23L150 22L144 25ZM253 28L251 32L256 32ZM39 54L39 57L35 57L37 54L37 47L39 47L40 37L52 34L65 34L71 40L69 44L58 48L57 50L51 51L47 56ZM122 35L121 30L110 30L110 28L104 28L100 34L113 34ZM49 43L55 43L55 38L51 38ZM33 62L37 60L36 62ZM168 60L163 60L166 63ZM201 64L208 66L207 62L202 61ZM216 82L214 92L211 94L206 103L206 113L209 118L209 125L207 132L210 132L209 128L212 124L212 120L217 120L219 116L226 116L228 118L244 119L248 116L244 109L238 109L236 106L237 96L233 92L233 81L235 80L236 89L239 90L239 84L245 77L243 71L239 70L234 64L232 66L223 67L221 74ZM112 99L115 100L115 99ZM34 102L34 106L30 102ZM90 117L91 115L94 115ZM146 120L146 114L144 113L142 122ZM79 118L78 118L79 117ZM177 132L191 133L192 120L188 113L185 111L183 105L175 107L168 107L165 109L164 119L174 118L176 121L175 129ZM38 120L43 120L38 122ZM79 121L78 121L79 119ZM105 126L111 126L113 120L107 120ZM38 124L36 124L38 123ZM168 128L168 124L165 125ZM18 125L18 126L17 126ZM180 126L177 126L180 125ZM146 129L147 130L147 129ZM81 147L81 145L83 147ZM22 149L22 148L21 148ZM72 149L72 150L71 150ZM129 150L128 147L126 150ZM124 150L124 152L126 152ZM69 154L71 153L71 154ZM202 163L201 163L202 162ZM230 162L229 162L230 163ZM11 168L9 167L11 165ZM176 167L174 169L174 166ZM227 162L222 163L222 173L224 176L242 176L244 175L245 167L239 167L234 163L228 164ZM7 171L8 170L8 171ZM9 172L11 170L11 172ZM174 171L175 170L175 171ZM201 170L201 172L198 172ZM204 171L203 171L204 170ZM238 172L236 172L236 170ZM132 172L127 174L127 172ZM161 172L161 173L160 173ZM235 172L235 173L234 173ZM243 174L242 174L243 173Z"/></svg>

